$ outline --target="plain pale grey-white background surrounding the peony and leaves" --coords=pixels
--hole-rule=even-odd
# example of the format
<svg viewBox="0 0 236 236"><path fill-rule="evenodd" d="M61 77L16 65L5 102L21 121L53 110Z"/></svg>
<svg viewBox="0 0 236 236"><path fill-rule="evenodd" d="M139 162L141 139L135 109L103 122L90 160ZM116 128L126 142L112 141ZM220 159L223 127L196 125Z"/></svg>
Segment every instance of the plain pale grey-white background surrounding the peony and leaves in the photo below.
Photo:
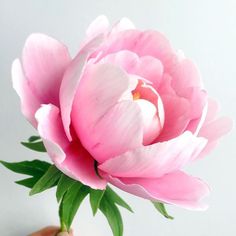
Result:
<svg viewBox="0 0 236 236"><path fill-rule="evenodd" d="M195 60L209 94L218 98L222 113L236 117L236 1L235 0L0 0L0 159L48 159L23 148L19 142L36 132L20 113L11 87L11 63L20 56L32 32L49 34L68 45L74 55L86 26L99 14L111 21L129 17L139 28L162 31L175 48ZM206 180L212 192L206 212L168 207L174 221L161 217L151 204L122 193L135 214L122 210L124 236L233 236L236 235L236 134L189 171ZM14 184L19 175L0 166L0 235L24 236L58 224L54 190L28 197ZM99 213L92 217L88 202L81 207L73 228L76 236L110 236Z"/></svg>

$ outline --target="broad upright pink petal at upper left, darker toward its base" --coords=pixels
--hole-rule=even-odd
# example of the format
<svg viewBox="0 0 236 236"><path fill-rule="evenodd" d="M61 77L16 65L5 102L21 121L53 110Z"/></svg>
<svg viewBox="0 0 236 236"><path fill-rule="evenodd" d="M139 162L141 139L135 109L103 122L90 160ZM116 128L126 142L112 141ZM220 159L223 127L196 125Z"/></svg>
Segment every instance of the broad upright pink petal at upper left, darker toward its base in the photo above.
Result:
<svg viewBox="0 0 236 236"><path fill-rule="evenodd" d="M59 89L71 59L67 48L43 34L27 39L22 56L23 70L32 94L41 104L59 105Z"/></svg>

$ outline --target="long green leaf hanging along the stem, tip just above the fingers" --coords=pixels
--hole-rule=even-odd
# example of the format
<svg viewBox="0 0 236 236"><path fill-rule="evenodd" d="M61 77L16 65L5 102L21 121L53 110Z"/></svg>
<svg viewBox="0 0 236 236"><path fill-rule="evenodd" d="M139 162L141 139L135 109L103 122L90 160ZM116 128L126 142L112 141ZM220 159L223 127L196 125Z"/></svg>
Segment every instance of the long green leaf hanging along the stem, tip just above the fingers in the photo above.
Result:
<svg viewBox="0 0 236 236"><path fill-rule="evenodd" d="M75 182L64 194L59 207L60 221L64 230L70 230L75 214L88 193L87 186Z"/></svg>

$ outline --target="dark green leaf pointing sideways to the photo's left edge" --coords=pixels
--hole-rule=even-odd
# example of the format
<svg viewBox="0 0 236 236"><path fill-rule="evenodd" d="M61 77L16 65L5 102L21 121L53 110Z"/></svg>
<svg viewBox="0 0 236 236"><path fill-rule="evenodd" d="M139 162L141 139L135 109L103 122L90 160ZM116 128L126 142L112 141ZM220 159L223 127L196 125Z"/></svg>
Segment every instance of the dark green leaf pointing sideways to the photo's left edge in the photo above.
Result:
<svg viewBox="0 0 236 236"><path fill-rule="evenodd" d="M19 173L35 176L35 174L43 174L51 166L48 162L33 160L33 161L22 161L22 162L6 162L0 161L9 170Z"/></svg>

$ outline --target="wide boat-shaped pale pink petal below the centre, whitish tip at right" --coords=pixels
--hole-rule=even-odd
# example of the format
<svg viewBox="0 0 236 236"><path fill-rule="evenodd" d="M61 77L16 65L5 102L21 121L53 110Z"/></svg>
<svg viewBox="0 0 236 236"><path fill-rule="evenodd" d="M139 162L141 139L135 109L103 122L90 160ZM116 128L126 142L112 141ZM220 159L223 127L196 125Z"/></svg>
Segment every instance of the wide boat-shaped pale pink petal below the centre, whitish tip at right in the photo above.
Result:
<svg viewBox="0 0 236 236"><path fill-rule="evenodd" d="M112 158L99 166L117 177L157 178L183 168L205 147L207 141L185 132L163 143L143 146Z"/></svg>

